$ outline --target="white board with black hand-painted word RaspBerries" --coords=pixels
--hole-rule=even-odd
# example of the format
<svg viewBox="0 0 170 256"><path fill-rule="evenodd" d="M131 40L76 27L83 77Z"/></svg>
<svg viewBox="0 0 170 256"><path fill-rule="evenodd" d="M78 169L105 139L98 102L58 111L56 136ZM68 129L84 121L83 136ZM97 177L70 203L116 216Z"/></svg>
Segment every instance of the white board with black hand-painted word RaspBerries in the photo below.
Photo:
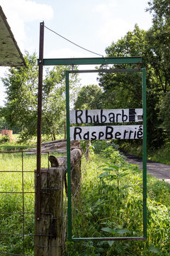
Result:
<svg viewBox="0 0 170 256"><path fill-rule="evenodd" d="M143 125L70 127L71 140L142 139Z"/></svg>

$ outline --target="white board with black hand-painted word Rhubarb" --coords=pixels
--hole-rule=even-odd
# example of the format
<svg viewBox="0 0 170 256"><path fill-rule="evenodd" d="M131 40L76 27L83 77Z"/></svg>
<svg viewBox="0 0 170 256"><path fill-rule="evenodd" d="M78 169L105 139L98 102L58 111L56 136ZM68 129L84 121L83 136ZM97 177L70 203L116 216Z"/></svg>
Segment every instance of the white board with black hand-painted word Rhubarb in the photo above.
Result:
<svg viewBox="0 0 170 256"><path fill-rule="evenodd" d="M70 124L109 124L142 122L142 109L70 110Z"/></svg>

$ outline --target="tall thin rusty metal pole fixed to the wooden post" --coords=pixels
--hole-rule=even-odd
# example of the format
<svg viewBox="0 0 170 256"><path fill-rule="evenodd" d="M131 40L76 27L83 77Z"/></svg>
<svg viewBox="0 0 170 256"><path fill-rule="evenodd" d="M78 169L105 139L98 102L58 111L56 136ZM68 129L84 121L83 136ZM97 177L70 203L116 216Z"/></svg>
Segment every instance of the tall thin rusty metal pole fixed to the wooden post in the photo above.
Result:
<svg viewBox="0 0 170 256"><path fill-rule="evenodd" d="M40 220L40 176L41 176L41 129L42 129L42 75L44 53L44 21L40 23L39 73L38 73L38 124L37 124L37 175L35 217Z"/></svg>

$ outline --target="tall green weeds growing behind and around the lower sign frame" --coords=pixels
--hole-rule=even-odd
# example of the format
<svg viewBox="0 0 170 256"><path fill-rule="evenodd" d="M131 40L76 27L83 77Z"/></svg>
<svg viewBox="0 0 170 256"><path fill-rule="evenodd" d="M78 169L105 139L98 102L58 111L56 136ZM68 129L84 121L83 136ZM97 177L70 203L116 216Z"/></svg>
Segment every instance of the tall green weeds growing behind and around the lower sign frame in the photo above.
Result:
<svg viewBox="0 0 170 256"><path fill-rule="evenodd" d="M169 184L148 176L148 188L147 241L73 242L67 255L168 256ZM112 146L91 156L79 198L72 200L75 237L142 236L142 174Z"/></svg>

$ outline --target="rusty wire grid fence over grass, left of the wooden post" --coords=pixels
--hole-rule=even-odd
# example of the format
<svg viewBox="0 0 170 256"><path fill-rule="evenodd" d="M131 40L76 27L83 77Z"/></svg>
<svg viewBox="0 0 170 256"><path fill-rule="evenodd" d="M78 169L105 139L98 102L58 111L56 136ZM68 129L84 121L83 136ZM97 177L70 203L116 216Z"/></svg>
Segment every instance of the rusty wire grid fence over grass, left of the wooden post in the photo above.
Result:
<svg viewBox="0 0 170 256"><path fill-rule="evenodd" d="M48 159L42 155L47 169ZM33 256L34 238L43 235L34 233L35 169L33 152L0 151L0 255Z"/></svg>

